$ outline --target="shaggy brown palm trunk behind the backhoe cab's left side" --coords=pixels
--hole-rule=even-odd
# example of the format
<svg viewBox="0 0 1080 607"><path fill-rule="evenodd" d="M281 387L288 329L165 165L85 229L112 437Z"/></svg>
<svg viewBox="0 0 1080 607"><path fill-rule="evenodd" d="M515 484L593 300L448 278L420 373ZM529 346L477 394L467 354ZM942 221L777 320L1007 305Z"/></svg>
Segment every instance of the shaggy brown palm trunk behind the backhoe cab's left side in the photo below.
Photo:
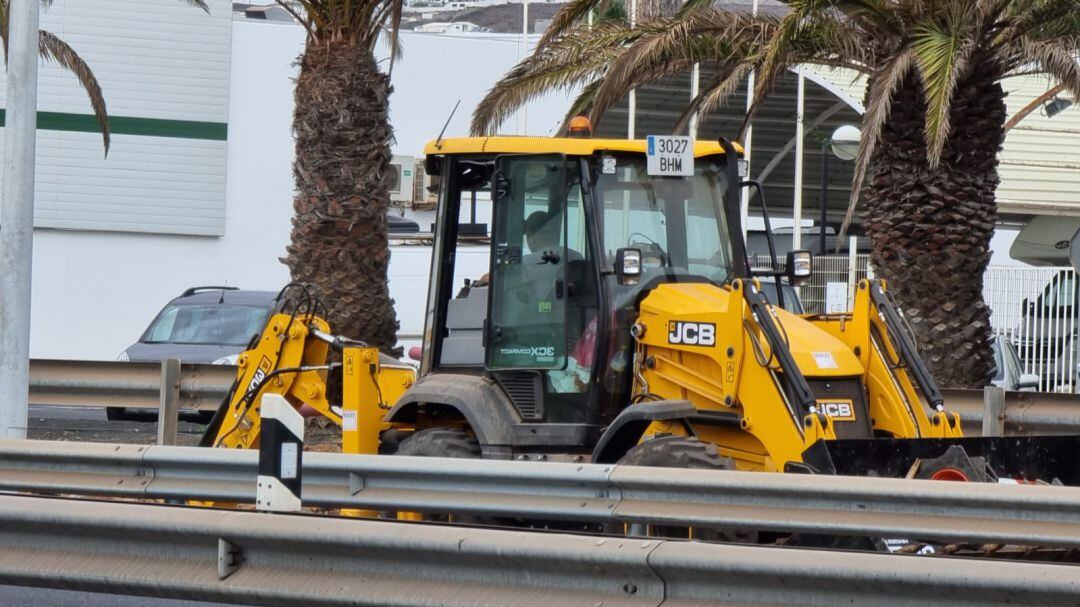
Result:
<svg viewBox="0 0 1080 607"><path fill-rule="evenodd" d="M335 333L390 352L397 320L387 284L390 251L391 86L372 52L310 44L300 58L293 134L293 280L314 284Z"/></svg>

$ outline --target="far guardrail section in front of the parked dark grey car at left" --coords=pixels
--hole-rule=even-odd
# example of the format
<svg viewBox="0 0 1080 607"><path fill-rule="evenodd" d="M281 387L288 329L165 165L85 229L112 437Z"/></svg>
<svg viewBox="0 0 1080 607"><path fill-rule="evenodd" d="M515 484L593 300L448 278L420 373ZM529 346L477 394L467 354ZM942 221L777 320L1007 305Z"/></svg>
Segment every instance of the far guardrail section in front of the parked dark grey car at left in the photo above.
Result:
<svg viewBox="0 0 1080 607"><path fill-rule="evenodd" d="M179 381L166 379L163 363L106 361L30 361L30 404L157 409L162 393L178 391L180 409L214 410L221 403L237 367L180 364Z"/></svg>

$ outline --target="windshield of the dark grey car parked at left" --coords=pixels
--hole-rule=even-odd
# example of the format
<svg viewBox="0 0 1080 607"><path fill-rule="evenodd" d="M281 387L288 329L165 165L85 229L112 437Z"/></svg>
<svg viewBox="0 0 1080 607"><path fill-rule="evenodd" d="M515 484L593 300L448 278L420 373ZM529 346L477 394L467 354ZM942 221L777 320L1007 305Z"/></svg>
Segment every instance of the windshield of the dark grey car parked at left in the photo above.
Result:
<svg viewBox="0 0 1080 607"><path fill-rule="evenodd" d="M246 346L262 329L267 309L230 304L174 304L153 320L144 343Z"/></svg>

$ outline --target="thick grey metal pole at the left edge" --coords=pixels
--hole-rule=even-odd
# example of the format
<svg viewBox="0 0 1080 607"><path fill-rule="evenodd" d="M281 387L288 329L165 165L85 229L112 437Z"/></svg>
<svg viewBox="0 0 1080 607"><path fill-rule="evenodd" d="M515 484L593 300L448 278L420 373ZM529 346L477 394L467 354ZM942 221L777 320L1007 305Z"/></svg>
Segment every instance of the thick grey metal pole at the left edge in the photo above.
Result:
<svg viewBox="0 0 1080 607"><path fill-rule="evenodd" d="M26 437L38 129L38 0L8 5L8 113L0 203L0 436Z"/></svg>

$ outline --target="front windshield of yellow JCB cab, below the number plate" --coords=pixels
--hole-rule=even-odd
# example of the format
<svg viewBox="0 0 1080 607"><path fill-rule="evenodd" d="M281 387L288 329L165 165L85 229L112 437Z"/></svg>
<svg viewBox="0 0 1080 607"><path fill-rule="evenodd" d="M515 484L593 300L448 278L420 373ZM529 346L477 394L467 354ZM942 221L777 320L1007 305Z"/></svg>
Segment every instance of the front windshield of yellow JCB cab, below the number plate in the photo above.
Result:
<svg viewBox="0 0 1080 607"><path fill-rule="evenodd" d="M691 177L657 177L644 156L607 156L595 177L605 265L622 247L642 251L642 284L693 275L721 283L731 271L724 219L724 158L701 158Z"/></svg>

